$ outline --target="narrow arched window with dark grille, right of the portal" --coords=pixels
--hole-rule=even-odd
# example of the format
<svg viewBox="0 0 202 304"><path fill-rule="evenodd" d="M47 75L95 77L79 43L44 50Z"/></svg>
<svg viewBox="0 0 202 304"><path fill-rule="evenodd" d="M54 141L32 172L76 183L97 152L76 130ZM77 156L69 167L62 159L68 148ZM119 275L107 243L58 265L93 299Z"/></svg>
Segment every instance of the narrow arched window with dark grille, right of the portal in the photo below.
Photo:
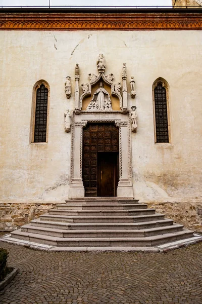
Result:
<svg viewBox="0 0 202 304"><path fill-rule="evenodd" d="M168 84L163 78L153 84L155 142L170 142Z"/></svg>

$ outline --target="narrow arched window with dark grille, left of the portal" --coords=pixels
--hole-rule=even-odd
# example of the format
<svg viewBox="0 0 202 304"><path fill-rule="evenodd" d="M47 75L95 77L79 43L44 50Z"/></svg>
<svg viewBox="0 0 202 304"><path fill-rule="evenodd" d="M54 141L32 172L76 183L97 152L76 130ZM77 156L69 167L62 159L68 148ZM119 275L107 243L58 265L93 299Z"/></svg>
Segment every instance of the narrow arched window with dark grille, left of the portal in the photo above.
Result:
<svg viewBox="0 0 202 304"><path fill-rule="evenodd" d="M47 142L49 86L41 80L34 85L31 142Z"/></svg>

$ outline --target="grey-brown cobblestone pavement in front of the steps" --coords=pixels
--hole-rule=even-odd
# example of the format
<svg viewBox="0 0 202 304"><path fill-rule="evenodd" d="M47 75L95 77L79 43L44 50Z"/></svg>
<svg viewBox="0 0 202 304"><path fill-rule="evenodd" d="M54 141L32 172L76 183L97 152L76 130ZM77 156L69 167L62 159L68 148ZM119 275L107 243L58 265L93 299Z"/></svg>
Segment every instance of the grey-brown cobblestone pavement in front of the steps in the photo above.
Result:
<svg viewBox="0 0 202 304"><path fill-rule="evenodd" d="M201 304L202 243L168 253L44 252L0 242L19 268L6 304Z"/></svg>

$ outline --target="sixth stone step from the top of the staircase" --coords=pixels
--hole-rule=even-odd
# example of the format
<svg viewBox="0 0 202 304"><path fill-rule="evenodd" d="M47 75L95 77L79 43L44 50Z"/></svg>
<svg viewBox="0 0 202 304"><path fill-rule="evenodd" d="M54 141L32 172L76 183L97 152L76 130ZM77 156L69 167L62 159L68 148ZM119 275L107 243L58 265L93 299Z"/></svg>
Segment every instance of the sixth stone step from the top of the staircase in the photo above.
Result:
<svg viewBox="0 0 202 304"><path fill-rule="evenodd" d="M181 231L183 225L174 224L170 226L143 229L143 230L61 230L46 227L37 227L26 224L21 227L22 232L36 233L46 236L53 236L59 238L143 238L155 236L159 234L173 233Z"/></svg>

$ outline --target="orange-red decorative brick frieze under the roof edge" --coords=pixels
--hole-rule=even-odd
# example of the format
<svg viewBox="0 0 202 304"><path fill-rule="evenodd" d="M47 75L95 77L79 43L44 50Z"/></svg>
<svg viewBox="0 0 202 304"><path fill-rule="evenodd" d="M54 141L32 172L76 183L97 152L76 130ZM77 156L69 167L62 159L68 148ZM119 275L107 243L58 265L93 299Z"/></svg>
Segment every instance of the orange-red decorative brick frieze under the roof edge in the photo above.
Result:
<svg viewBox="0 0 202 304"><path fill-rule="evenodd" d="M0 30L200 30L198 13L0 13Z"/></svg>

